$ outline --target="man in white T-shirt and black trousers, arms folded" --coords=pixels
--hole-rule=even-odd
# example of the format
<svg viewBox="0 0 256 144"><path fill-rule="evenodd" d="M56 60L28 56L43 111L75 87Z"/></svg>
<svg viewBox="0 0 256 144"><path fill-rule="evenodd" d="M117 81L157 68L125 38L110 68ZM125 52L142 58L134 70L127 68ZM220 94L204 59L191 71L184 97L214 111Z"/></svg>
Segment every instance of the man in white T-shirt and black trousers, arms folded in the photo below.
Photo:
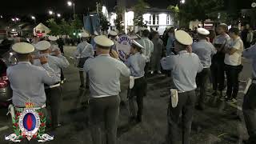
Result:
<svg viewBox="0 0 256 144"><path fill-rule="evenodd" d="M239 37L238 28L231 28L229 35L231 39L227 42L224 60L227 79L226 100L236 102L239 89L238 77L242 71L243 42Z"/></svg>

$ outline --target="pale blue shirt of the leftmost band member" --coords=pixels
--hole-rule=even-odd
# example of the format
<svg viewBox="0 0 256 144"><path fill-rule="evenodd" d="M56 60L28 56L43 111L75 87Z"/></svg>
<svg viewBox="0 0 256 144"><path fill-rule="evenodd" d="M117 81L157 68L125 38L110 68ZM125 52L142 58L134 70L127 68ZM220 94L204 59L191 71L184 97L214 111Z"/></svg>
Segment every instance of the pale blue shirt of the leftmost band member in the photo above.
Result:
<svg viewBox="0 0 256 144"><path fill-rule="evenodd" d="M25 102L30 99L35 107L46 103L44 84L53 85L58 82L58 77L48 63L42 67L33 66L30 62L18 62L7 69L7 76L13 90L12 101L14 106L25 107Z"/></svg>

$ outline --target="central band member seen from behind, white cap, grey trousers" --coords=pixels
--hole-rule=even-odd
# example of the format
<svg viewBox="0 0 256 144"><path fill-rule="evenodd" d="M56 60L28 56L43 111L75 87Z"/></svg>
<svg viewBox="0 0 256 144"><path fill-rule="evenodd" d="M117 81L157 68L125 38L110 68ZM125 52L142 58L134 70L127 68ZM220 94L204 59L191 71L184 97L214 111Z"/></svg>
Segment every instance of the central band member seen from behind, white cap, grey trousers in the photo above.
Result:
<svg viewBox="0 0 256 144"><path fill-rule="evenodd" d="M110 47L114 45L109 38L100 35L94 38L97 44L97 57L85 62L84 70L90 79L90 130L94 144L117 143L117 128L120 105L120 75L130 76L128 67L116 58L110 57ZM103 134L102 134L103 133Z"/></svg>

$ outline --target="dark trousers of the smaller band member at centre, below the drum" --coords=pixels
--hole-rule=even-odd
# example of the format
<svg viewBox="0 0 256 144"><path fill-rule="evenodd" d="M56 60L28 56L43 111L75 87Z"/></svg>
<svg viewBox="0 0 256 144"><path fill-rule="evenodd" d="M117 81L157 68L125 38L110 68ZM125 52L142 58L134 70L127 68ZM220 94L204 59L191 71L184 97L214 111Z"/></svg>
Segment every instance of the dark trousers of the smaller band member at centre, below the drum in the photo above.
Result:
<svg viewBox="0 0 256 144"><path fill-rule="evenodd" d="M131 90L128 90L129 98L129 109L131 117L136 116L134 98L136 97L138 111L137 116L142 117L143 111L143 97L146 95L146 78L138 78L134 80L134 87Z"/></svg>

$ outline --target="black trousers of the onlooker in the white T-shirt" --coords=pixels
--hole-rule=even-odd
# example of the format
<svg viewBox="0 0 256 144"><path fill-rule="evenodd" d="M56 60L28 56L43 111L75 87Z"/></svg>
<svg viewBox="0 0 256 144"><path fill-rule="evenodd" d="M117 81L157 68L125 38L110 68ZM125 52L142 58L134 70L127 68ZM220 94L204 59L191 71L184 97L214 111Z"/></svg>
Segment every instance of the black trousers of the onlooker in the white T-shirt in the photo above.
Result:
<svg viewBox="0 0 256 144"><path fill-rule="evenodd" d="M225 65L225 71L227 83L226 96L228 98L237 98L239 90L238 78L241 70L239 70L239 66Z"/></svg>

